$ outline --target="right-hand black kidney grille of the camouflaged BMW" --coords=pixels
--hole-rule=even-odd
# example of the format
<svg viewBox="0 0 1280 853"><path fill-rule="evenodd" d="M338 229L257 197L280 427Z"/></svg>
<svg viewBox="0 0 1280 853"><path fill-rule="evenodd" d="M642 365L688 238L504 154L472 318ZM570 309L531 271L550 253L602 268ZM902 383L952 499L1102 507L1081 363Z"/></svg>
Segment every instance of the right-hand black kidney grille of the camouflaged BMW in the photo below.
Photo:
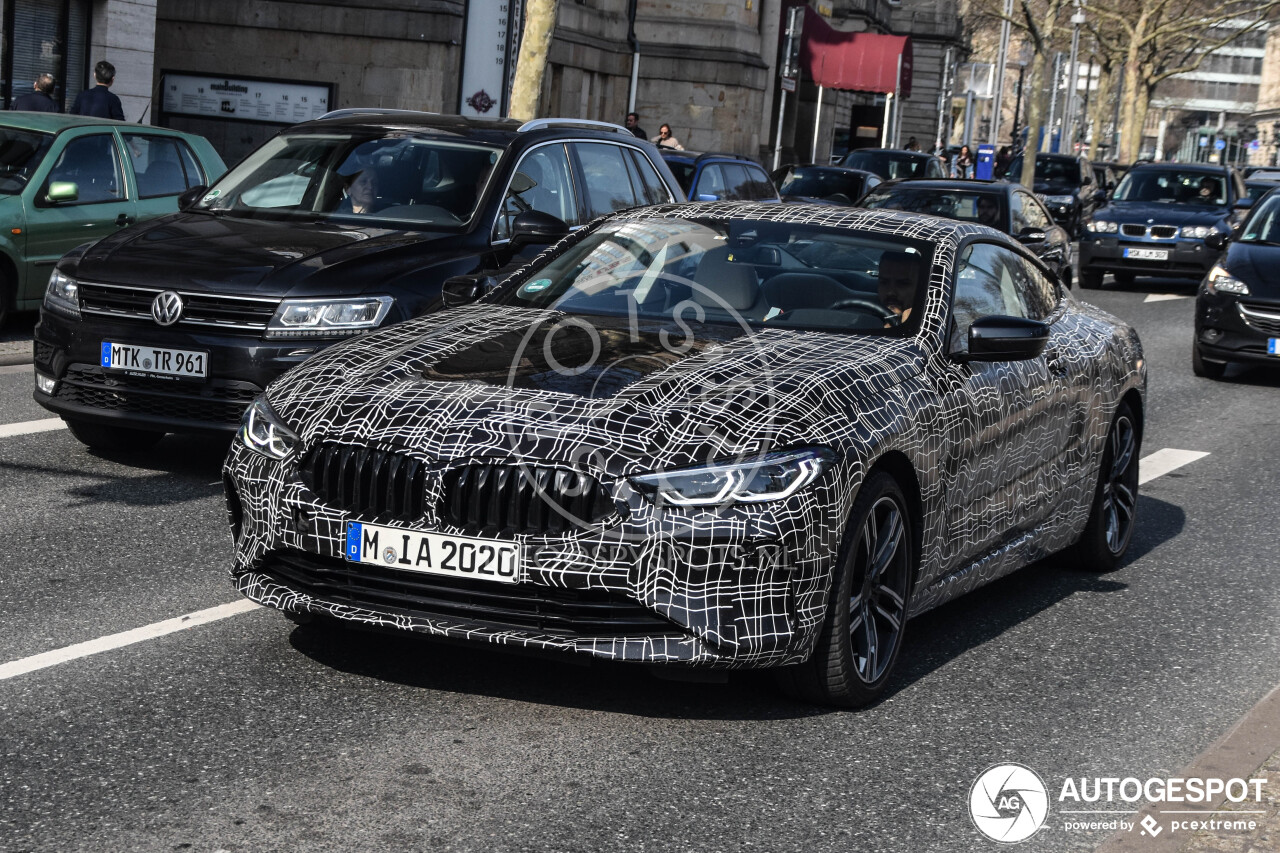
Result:
<svg viewBox="0 0 1280 853"><path fill-rule="evenodd" d="M544 465L466 465L444 475L440 516L481 534L559 535L613 515L594 476Z"/></svg>

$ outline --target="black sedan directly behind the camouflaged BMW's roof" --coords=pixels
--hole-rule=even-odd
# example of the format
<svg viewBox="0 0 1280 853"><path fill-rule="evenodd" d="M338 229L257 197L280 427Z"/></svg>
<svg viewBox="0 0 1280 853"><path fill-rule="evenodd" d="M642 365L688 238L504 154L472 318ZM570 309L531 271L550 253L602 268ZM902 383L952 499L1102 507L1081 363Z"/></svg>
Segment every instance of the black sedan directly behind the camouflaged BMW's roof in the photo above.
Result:
<svg viewBox="0 0 1280 853"><path fill-rule="evenodd" d="M891 181L860 202L863 207L974 222L1002 231L1036 252L1059 279L1071 286L1071 238L1041 204L1016 183L989 181Z"/></svg>

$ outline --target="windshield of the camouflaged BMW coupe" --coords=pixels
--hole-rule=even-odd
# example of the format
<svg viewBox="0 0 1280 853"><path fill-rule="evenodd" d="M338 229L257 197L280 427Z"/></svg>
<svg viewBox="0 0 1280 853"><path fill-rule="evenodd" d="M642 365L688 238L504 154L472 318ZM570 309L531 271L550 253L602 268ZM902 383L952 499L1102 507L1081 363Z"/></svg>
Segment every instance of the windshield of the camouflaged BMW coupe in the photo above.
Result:
<svg viewBox="0 0 1280 853"><path fill-rule="evenodd" d="M675 324L677 334L704 323L909 334L931 250L801 223L611 222L495 298Z"/></svg>

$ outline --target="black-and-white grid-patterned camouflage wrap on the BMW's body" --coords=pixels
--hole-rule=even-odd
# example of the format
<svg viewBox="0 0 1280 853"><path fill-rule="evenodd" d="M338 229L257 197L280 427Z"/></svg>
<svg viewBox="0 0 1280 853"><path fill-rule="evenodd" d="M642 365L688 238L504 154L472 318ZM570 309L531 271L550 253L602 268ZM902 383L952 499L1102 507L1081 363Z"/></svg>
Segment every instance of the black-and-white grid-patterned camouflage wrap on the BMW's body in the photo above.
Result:
<svg viewBox="0 0 1280 853"><path fill-rule="evenodd" d="M936 252L919 330L890 337L755 329L675 359L612 394L431 378L451 353L556 319L553 311L481 302L332 347L268 391L305 446L349 443L431 462L428 511L413 529L465 533L435 510L439 473L451 465L539 461L595 475L626 503L625 517L529 538L524 583L621 593L669 619L681 628L677 635L566 639L291 589L260 571L264 560L282 549L340 560L346 524L361 519L325 506L303 485L300 455L276 462L236 443L225 476L243 512L232 569L239 592L284 611L456 639L631 661L773 666L801 661L813 648L845 523L873 466L888 466L919 511L911 615L1079 538L1116 406L1128 396L1142 411L1146 374L1132 328L1065 296L1051 318L1048 359L957 364L943 355L957 252L974 237L1014 247L1007 238L929 216L829 206L681 205L614 218L680 214L928 241ZM512 284L562 250L520 270ZM659 510L625 479L800 446L829 447L837 461L814 485L771 503Z"/></svg>

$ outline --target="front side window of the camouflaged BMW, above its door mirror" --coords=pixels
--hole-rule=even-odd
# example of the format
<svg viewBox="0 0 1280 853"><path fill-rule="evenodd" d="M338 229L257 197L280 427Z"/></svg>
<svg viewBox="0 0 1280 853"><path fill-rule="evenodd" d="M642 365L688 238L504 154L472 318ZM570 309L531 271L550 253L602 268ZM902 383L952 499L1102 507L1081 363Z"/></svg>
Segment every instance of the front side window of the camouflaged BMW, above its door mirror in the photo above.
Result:
<svg viewBox="0 0 1280 853"><path fill-rule="evenodd" d="M968 351L969 327L979 318L1030 316L1025 301L1029 289L1021 257L991 243L969 245L956 264L951 351Z"/></svg>

